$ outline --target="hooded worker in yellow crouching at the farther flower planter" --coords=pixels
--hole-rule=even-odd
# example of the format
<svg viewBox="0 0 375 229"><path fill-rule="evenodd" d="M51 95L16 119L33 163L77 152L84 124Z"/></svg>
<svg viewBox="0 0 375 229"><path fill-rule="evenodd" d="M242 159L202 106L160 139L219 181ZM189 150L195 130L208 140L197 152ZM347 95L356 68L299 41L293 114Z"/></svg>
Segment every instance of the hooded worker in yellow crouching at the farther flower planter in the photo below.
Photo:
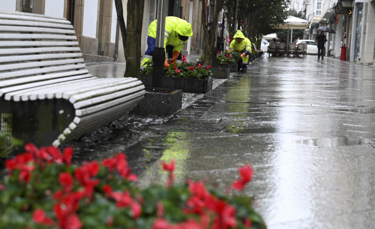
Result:
<svg viewBox="0 0 375 229"><path fill-rule="evenodd" d="M251 42L248 38L245 38L244 34L237 30L233 37L233 41L229 45L228 51L241 52L241 58L237 61L238 71L246 72L247 62L249 61L249 56L251 55Z"/></svg>

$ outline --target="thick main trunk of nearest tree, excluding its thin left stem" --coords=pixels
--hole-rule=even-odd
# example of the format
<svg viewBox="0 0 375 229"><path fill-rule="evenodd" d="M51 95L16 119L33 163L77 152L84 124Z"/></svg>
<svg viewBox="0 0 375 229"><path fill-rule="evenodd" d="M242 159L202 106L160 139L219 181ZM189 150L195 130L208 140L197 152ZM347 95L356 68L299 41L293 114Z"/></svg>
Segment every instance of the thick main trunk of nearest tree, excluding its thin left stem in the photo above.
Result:
<svg viewBox="0 0 375 229"><path fill-rule="evenodd" d="M128 0L125 47L126 77L140 79L143 8L145 0Z"/></svg>

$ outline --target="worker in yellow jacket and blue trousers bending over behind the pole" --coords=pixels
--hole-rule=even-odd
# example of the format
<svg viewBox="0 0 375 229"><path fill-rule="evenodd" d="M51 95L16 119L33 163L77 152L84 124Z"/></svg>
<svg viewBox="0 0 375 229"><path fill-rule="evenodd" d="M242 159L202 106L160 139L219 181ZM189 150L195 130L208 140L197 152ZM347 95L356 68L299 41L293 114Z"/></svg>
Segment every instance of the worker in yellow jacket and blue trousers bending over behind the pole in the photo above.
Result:
<svg viewBox="0 0 375 229"><path fill-rule="evenodd" d="M148 48L143 56L142 66L144 66L148 60L152 59L156 44L156 21L157 20L151 22L149 26L149 36L147 37ZM193 36L193 30L189 22L178 17L165 17L164 67L169 68L169 64L181 63L181 49L191 36Z"/></svg>

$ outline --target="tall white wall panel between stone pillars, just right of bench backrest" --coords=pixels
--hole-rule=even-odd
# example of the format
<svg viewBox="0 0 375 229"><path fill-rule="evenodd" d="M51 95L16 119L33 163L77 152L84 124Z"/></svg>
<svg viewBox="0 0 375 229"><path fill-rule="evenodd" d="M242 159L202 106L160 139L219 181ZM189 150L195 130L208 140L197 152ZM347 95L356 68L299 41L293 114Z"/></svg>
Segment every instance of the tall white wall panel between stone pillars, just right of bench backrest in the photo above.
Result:
<svg viewBox="0 0 375 229"><path fill-rule="evenodd" d="M83 8L82 35L96 38L98 23L98 0L90 0Z"/></svg>

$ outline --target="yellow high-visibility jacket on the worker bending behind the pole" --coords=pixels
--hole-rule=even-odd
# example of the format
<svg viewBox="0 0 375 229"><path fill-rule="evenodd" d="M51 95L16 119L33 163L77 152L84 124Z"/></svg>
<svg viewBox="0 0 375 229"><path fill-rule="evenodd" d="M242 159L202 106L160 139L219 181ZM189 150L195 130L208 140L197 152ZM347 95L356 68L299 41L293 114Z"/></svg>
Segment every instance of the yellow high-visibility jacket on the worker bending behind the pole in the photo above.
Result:
<svg viewBox="0 0 375 229"><path fill-rule="evenodd" d="M149 36L156 38L157 20L151 22L149 26ZM165 17L165 31L164 31L164 49L165 46L173 46L173 51L181 52L182 47L187 43L178 38L178 34L182 36L193 36L193 30L189 22L178 17ZM165 53L166 54L166 53Z"/></svg>

